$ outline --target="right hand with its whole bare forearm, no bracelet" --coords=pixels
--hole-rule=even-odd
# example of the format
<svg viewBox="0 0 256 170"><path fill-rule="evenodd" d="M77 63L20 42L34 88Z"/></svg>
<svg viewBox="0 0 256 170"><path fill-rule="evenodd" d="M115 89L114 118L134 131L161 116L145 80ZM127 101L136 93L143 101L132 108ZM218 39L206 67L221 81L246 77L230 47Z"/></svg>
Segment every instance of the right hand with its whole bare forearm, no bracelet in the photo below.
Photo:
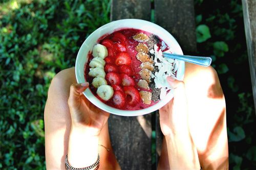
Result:
<svg viewBox="0 0 256 170"><path fill-rule="evenodd" d="M159 110L169 169L200 169L197 149L188 128L187 101L182 81L167 77L174 98Z"/></svg>

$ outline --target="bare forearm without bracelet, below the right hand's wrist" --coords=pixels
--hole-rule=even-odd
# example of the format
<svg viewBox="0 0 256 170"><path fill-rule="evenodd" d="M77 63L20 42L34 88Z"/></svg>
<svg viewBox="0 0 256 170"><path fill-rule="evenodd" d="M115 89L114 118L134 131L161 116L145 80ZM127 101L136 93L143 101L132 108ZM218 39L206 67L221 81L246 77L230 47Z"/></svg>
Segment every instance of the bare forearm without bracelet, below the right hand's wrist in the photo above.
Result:
<svg viewBox="0 0 256 170"><path fill-rule="evenodd" d="M197 149L189 133L165 137L170 169L200 169Z"/></svg>

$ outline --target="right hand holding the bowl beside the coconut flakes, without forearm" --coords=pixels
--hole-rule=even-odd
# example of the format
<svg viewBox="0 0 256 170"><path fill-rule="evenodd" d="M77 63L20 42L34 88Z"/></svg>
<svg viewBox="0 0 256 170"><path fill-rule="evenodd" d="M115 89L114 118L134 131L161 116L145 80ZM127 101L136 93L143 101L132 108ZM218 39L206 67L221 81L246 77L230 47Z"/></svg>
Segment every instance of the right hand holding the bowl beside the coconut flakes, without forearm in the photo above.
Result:
<svg viewBox="0 0 256 170"><path fill-rule="evenodd" d="M188 132L187 101L185 86L182 81L167 77L167 82L174 89L174 98L159 109L160 127L163 135Z"/></svg>

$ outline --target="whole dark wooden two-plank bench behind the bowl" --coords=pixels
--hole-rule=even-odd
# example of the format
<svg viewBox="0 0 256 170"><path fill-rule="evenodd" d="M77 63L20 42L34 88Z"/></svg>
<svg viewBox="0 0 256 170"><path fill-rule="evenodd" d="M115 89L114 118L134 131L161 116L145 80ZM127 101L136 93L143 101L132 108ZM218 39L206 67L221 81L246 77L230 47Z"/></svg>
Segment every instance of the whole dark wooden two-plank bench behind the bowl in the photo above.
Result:
<svg viewBox="0 0 256 170"><path fill-rule="evenodd" d="M177 39L183 53L196 52L193 0L112 0L111 20L137 18L151 21L153 9L155 23ZM109 130L122 169L156 169L162 144L158 111L136 117L111 114ZM152 140L153 131L156 140ZM152 158L152 143L156 144L155 158ZM153 159L156 160L154 164Z"/></svg>

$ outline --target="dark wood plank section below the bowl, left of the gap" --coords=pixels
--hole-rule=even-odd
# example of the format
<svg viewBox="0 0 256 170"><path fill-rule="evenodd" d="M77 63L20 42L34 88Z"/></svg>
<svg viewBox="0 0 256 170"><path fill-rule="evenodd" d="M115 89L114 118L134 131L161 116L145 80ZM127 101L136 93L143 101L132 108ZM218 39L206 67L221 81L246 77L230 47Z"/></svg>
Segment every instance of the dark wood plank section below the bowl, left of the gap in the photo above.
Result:
<svg viewBox="0 0 256 170"><path fill-rule="evenodd" d="M151 114L141 117L147 132L141 128L138 116L110 115L110 138L121 169L151 169Z"/></svg>

